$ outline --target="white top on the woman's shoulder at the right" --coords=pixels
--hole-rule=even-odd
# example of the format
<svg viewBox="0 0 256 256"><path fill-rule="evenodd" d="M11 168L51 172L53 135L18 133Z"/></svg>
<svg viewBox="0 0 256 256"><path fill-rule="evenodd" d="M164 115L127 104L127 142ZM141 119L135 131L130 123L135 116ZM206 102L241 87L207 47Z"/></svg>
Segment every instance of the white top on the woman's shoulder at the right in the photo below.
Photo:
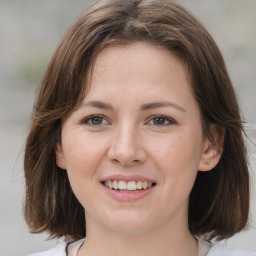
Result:
<svg viewBox="0 0 256 256"><path fill-rule="evenodd" d="M207 256L256 256L256 253L247 252L235 248L229 248L222 244L212 243L212 247Z"/></svg>

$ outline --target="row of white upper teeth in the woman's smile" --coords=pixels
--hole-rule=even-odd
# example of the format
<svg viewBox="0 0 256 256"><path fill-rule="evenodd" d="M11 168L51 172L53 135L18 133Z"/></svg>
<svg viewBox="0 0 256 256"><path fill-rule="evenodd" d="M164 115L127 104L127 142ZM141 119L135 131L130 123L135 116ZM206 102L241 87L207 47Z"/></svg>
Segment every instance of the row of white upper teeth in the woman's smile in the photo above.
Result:
<svg viewBox="0 0 256 256"><path fill-rule="evenodd" d="M105 186L112 189L124 191L136 191L141 189L148 189L153 186L151 182L146 181L123 181L123 180L108 180L104 182Z"/></svg>

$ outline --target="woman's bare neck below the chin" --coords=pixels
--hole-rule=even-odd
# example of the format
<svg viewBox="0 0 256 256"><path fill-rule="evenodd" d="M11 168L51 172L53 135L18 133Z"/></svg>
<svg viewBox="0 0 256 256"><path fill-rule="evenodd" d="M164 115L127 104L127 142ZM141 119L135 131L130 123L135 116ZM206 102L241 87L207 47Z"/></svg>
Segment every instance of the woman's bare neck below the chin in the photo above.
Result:
<svg viewBox="0 0 256 256"><path fill-rule="evenodd" d="M110 230L102 232L93 224L87 227L87 236L79 256L197 256L197 240L187 225L164 225L151 232L120 233ZM107 233L106 233L107 232Z"/></svg>

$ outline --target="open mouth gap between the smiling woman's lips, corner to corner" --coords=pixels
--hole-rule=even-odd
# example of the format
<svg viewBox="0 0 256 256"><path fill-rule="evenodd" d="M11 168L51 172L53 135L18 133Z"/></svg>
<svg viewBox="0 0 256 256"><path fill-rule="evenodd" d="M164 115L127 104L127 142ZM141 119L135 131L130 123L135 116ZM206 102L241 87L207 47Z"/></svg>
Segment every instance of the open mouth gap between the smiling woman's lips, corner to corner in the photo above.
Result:
<svg viewBox="0 0 256 256"><path fill-rule="evenodd" d="M117 192L136 193L148 190L154 187L156 183L147 181L124 181L124 180L106 180L101 182L105 187Z"/></svg>

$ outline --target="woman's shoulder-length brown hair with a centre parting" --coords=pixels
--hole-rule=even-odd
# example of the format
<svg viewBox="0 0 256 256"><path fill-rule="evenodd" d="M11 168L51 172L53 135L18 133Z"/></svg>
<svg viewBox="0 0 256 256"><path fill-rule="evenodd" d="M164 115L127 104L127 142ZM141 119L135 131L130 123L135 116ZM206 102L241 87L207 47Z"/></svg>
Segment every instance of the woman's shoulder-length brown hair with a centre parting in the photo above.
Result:
<svg viewBox="0 0 256 256"><path fill-rule="evenodd" d="M161 45L184 60L198 102L203 132L225 128L223 154L198 172L189 201L192 234L224 239L248 219L249 175L243 127L225 63L214 40L189 12L170 0L101 1L68 30L43 79L25 149L25 219L32 232L73 239L85 236L84 209L65 171L56 166L61 122L85 95L84 82L100 50L136 41Z"/></svg>

